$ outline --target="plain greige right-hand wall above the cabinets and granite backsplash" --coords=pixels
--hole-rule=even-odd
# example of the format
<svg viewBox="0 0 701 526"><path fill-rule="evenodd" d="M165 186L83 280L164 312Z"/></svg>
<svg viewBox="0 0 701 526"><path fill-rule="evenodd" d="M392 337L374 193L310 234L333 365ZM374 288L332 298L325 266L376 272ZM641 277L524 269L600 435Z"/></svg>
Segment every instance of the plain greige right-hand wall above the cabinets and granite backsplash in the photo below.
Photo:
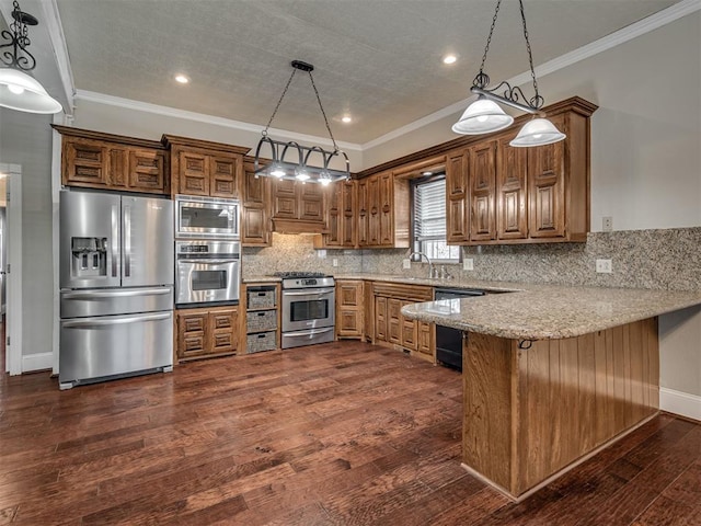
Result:
<svg viewBox="0 0 701 526"><path fill-rule="evenodd" d="M616 230L701 225L700 43L696 12L538 79L545 104L579 95L599 105L591 230L601 230L602 216ZM366 149L366 168L458 137L450 126L459 116Z"/></svg>

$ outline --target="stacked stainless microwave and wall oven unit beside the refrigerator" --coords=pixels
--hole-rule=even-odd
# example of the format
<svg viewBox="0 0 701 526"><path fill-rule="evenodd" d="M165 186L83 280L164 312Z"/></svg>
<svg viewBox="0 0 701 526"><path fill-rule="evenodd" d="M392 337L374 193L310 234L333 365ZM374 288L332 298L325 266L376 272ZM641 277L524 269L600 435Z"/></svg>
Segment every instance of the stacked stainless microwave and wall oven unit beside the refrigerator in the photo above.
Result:
<svg viewBox="0 0 701 526"><path fill-rule="evenodd" d="M241 282L239 202L175 198L175 304L234 305Z"/></svg>

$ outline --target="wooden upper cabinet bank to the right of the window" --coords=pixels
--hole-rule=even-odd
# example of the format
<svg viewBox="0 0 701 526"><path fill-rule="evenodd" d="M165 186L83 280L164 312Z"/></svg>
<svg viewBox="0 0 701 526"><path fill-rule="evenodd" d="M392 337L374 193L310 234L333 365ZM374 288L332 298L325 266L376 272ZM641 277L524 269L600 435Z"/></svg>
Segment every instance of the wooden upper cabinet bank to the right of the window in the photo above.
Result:
<svg viewBox="0 0 701 526"><path fill-rule="evenodd" d="M590 215L589 118L596 108L579 98L548 106L548 118L566 135L560 142L533 148L509 146L530 118L522 116L506 132L487 139L470 139L469 147L452 150L446 163L448 243L586 241ZM461 171L464 176L460 176ZM466 198L470 202L469 218L461 206Z"/></svg>

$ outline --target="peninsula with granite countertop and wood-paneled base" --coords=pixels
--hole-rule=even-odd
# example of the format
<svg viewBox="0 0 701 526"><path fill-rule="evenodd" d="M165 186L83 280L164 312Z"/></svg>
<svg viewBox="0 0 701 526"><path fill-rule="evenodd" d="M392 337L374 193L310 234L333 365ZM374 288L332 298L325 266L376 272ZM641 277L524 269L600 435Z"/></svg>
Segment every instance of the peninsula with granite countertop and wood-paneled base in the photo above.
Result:
<svg viewBox="0 0 701 526"><path fill-rule="evenodd" d="M657 413L657 317L701 291L510 285L402 315L464 331L463 464L521 500Z"/></svg>

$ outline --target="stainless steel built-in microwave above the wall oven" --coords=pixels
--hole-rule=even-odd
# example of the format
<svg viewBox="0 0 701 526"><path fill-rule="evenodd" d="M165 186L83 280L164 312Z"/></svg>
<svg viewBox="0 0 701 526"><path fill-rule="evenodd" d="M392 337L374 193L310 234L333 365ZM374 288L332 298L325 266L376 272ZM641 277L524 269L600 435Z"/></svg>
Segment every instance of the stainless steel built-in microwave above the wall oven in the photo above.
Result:
<svg viewBox="0 0 701 526"><path fill-rule="evenodd" d="M176 195L175 237L239 239L239 202L222 197Z"/></svg>

